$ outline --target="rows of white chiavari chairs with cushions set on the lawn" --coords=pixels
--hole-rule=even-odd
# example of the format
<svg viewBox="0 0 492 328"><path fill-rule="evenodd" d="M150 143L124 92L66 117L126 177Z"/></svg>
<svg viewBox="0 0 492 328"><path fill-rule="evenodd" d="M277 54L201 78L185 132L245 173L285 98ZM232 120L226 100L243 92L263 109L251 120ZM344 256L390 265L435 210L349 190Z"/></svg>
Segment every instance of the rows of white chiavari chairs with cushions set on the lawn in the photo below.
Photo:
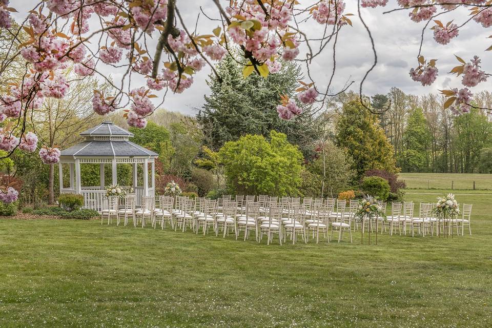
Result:
<svg viewBox="0 0 492 328"><path fill-rule="evenodd" d="M319 242L319 235L326 238L330 228L330 239L335 232L340 242L345 232L348 233L352 242L352 231L357 230L359 224L361 224L362 232L364 229L372 231L375 229L376 222L360 222L355 219L357 200L351 200L347 204L345 200L334 198L304 198L302 202L300 198L291 197L279 199L268 196L258 196L258 198L236 196L235 200L231 198L231 196L223 196L217 200L210 200L144 196L142 207L135 209L135 195L127 195L124 208L118 209L118 199L110 197L108 210L103 211L101 215L101 224L104 217L108 218L108 224L115 217L118 225L120 219L123 219L126 226L129 218L132 218L135 227L137 225L146 227L147 223L151 223L154 229L157 226L165 229L166 224L169 223L174 230L180 229L183 232L190 228L198 233L201 229L203 235L212 229L216 235L220 232L225 237L232 231L237 239L242 233L244 240L254 232L257 241L267 236L267 243L270 243L275 235L278 235L280 243L282 239L285 242L286 238L295 243L298 237L308 242L310 234L316 242ZM385 212L386 203L380 202L379 205ZM429 231L431 234L437 231L438 234L444 229L444 222L432 217L432 204L421 203L419 217L413 217L413 209L413 202L392 203L391 215L386 218L377 218L381 233L387 228L389 234L393 235L394 230L398 228L400 235L402 231L406 234L407 227L409 227L412 235L417 230L425 236ZM467 225L471 234L469 225L471 206L464 205L462 214L462 218L453 219L453 227L456 227L457 233L461 227L461 234L463 234L463 228ZM452 229L449 225L447 227Z"/></svg>

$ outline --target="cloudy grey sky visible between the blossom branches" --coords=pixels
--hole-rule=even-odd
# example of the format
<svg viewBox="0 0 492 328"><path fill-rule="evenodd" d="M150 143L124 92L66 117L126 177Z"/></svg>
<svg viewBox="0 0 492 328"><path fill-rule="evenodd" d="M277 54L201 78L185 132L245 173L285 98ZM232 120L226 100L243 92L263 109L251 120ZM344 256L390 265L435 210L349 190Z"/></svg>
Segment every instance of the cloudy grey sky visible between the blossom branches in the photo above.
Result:
<svg viewBox="0 0 492 328"><path fill-rule="evenodd" d="M228 3L228 1L223 2L224 6ZM32 0L11 0L10 5L19 11L14 15L17 22L24 18L27 12L37 3L38 1ZM312 1L304 0L302 3L312 3ZM346 3L345 13L356 14L357 1L347 0ZM185 15L185 20L190 27L195 25L200 6L209 16L218 16L210 0L178 0L177 6L181 14ZM416 24L412 22L406 10L383 14L383 11L393 8L397 8L395 0L390 0L385 8L362 9L362 16L373 34L379 59L377 67L368 76L364 84L364 94L387 93L393 86L412 94L426 94L437 92L438 89L459 87L460 78L446 74L446 72L458 65L454 54L466 61L469 61L469 58L473 57L474 54L478 54L482 58L483 69L487 72L492 71L492 52L484 52L484 49L492 44L492 40L487 39L490 35L490 29L484 29L481 25L471 21L461 28L459 36L446 46L439 45L434 41L431 30L425 32L422 54L429 59L438 59L439 77L429 87L422 87L419 83L412 81L408 76L408 71L410 68L417 66L416 55L424 23ZM467 11L463 9L459 12L455 11L454 13L441 15L439 18L443 23L454 19L454 22L460 25L468 18L467 15ZM360 80L373 63L371 44L367 37L367 32L357 16L353 16L351 19L353 27L345 26L339 35L337 72L333 83L333 91L340 90L347 80L355 80L356 83L353 89L358 90ZM211 34L211 30L216 26L217 22L212 22L200 15L199 32ZM302 30L308 31L312 37L319 37L322 33L322 27L314 20L303 23L301 26ZM299 57L303 57L304 53L301 51ZM333 68L332 65L331 47L327 47L310 66L310 71L318 87L325 87ZM103 69L103 71L114 79L120 77L114 68L108 67ZM205 68L196 74L193 86L182 94L168 94L163 107L187 114L195 113L195 108L199 108L203 104L203 95L209 93L205 81L209 73L210 69ZM132 81L132 85L135 86L142 84L144 84L143 79ZM487 81L479 84L473 91L491 90L491 86L490 81Z"/></svg>

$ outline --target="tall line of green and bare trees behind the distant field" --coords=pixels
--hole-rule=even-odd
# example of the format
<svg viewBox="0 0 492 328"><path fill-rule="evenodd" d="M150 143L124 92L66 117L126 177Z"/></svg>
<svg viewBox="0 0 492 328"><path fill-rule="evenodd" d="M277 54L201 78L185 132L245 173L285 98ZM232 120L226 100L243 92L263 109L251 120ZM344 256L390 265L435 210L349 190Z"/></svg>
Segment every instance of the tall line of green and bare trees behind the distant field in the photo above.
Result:
<svg viewBox="0 0 492 328"><path fill-rule="evenodd" d="M474 103L492 108L492 93ZM455 116L437 94L416 96L392 88L371 98L380 126L393 145L402 172L479 173L481 152L492 147L492 115L486 109ZM484 157L484 156L482 156Z"/></svg>

